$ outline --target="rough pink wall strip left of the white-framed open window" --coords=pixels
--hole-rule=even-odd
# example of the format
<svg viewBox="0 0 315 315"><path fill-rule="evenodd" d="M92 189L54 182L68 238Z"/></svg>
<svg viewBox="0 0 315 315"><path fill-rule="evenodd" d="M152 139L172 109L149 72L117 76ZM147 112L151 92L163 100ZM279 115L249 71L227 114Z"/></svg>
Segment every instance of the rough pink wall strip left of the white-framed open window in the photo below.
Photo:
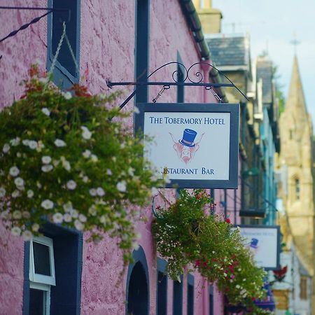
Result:
<svg viewBox="0 0 315 315"><path fill-rule="evenodd" d="M0 314L22 314L24 241L0 221Z"/></svg>

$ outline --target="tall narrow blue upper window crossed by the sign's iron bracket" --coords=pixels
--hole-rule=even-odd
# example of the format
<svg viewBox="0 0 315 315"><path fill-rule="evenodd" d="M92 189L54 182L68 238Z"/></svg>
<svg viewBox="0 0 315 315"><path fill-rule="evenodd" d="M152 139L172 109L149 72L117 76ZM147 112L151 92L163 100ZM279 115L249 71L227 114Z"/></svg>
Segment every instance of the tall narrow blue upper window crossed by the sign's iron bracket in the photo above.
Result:
<svg viewBox="0 0 315 315"><path fill-rule="evenodd" d="M136 0L136 53L135 53L135 74L137 81L146 82L148 77L149 62L149 16L150 0ZM148 86L137 87L135 102L148 102Z"/></svg>

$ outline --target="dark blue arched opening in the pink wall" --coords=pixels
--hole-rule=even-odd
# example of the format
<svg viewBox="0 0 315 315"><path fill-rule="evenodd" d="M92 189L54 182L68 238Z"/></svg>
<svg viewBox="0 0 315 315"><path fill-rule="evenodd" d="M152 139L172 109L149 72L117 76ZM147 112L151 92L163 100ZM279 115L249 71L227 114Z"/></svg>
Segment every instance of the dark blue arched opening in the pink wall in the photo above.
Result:
<svg viewBox="0 0 315 315"><path fill-rule="evenodd" d="M150 286L144 249L140 246L132 256L134 262L129 265L127 272L126 315L148 315Z"/></svg>

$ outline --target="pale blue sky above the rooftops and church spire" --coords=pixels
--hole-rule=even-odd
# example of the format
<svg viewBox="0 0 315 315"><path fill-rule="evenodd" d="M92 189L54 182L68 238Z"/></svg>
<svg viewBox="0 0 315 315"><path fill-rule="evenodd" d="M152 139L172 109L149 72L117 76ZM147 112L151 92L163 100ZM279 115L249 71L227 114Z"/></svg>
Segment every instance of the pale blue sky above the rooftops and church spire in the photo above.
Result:
<svg viewBox="0 0 315 315"><path fill-rule="evenodd" d="M213 0L212 6L223 14L223 34L249 33L252 58L267 50L278 66L285 97L296 48L307 111L315 130L315 1ZM294 39L300 43L293 45Z"/></svg>

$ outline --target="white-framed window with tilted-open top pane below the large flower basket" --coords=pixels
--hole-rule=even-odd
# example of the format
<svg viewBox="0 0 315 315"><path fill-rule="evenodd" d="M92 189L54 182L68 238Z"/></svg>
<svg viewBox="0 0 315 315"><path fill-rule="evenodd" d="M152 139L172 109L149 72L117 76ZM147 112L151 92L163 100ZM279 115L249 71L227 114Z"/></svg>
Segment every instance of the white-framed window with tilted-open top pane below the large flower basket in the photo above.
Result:
<svg viewBox="0 0 315 315"><path fill-rule="evenodd" d="M29 251L29 314L50 314L50 286L56 285L53 241L34 237Z"/></svg>

